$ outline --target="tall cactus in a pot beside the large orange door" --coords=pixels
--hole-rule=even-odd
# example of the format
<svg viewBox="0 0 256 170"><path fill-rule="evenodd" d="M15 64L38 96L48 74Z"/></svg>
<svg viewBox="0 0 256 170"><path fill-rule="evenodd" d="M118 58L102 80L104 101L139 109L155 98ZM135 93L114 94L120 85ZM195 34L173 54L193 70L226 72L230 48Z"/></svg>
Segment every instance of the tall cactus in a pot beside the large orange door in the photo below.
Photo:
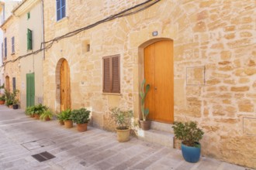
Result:
<svg viewBox="0 0 256 170"><path fill-rule="evenodd" d="M140 120L140 126L144 131L147 131L150 129L151 121L147 120L149 109L145 108L145 97L147 96L147 92L150 90L150 85L147 84L145 86L145 83L146 83L146 79L144 79L140 85L141 114L142 114L142 120Z"/></svg>

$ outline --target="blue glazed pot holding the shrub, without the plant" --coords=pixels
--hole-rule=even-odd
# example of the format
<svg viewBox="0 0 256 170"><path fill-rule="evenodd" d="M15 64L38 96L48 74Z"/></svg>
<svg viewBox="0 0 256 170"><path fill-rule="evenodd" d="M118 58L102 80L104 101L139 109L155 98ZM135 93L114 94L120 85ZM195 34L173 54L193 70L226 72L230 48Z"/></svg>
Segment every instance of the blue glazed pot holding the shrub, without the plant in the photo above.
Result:
<svg viewBox="0 0 256 170"><path fill-rule="evenodd" d="M199 145L199 148L190 147L183 145L182 142L182 156L186 162L198 162L201 154L201 145L198 142L195 142Z"/></svg>

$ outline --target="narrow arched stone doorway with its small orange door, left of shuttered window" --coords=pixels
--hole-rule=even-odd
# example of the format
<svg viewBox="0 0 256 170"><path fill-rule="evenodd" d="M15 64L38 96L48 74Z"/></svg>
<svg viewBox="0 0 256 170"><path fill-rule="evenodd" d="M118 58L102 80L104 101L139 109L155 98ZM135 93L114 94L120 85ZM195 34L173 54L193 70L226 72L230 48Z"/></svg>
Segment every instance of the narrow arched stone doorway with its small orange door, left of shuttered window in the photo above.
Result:
<svg viewBox="0 0 256 170"><path fill-rule="evenodd" d="M57 110L71 109L70 69L66 59L60 59L56 68L57 101L60 107Z"/></svg>

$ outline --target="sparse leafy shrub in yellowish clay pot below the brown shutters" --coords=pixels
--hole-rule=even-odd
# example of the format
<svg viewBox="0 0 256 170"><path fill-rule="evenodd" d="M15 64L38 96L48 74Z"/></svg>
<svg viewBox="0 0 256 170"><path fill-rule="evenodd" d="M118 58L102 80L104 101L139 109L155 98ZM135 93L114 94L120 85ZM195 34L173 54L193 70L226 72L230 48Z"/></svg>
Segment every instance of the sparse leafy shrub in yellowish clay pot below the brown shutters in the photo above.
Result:
<svg viewBox="0 0 256 170"><path fill-rule="evenodd" d="M133 117L132 110L120 110L115 107L111 109L111 117L116 123L117 141L125 142L130 139L130 124Z"/></svg>

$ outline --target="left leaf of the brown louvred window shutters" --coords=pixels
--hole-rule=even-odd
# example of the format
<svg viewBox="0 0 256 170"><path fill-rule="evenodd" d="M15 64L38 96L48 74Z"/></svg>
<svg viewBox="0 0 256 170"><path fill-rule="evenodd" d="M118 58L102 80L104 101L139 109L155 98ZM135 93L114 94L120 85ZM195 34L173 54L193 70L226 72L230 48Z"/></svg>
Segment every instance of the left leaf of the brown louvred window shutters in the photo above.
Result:
<svg viewBox="0 0 256 170"><path fill-rule="evenodd" d="M111 92L111 73L110 73L110 57L103 58L103 92L110 93Z"/></svg>

